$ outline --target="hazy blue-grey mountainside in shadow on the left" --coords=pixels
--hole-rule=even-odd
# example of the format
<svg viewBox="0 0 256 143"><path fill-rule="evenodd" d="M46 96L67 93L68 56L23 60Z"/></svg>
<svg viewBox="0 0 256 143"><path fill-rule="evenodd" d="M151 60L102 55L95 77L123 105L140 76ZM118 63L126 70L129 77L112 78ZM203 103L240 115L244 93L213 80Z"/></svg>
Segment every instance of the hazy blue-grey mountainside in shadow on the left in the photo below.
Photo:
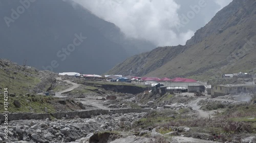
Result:
<svg viewBox="0 0 256 143"><path fill-rule="evenodd" d="M101 74L139 52L141 43L152 47L145 41L137 41L137 44L125 40L113 23L82 7L74 7L69 1L26 3L27 8L19 14L17 8L23 6L20 2L30 1L0 0L0 57L20 65L27 59L27 64L37 69ZM75 34L87 39L80 40L75 50L64 51L63 48L67 49L74 42ZM116 37L119 39L115 40ZM123 43L127 43L126 46L122 46ZM51 64L54 60L57 66Z"/></svg>

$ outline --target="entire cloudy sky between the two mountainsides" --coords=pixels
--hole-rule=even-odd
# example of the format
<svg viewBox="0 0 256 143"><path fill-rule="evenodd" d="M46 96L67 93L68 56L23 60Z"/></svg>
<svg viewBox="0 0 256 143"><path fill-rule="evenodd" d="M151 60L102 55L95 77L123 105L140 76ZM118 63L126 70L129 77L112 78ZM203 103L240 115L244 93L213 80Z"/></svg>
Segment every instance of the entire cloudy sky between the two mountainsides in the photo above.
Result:
<svg viewBox="0 0 256 143"><path fill-rule="evenodd" d="M128 38L184 45L232 0L73 0L116 24Z"/></svg>

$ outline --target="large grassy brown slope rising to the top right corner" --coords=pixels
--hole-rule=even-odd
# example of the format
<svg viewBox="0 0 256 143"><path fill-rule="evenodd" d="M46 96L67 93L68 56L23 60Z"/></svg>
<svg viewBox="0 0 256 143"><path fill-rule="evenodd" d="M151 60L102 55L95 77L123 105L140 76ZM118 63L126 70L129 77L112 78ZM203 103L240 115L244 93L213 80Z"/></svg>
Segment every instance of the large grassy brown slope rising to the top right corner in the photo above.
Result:
<svg viewBox="0 0 256 143"><path fill-rule="evenodd" d="M189 48L186 48L184 52L181 49L182 52L176 55L175 58L169 59L156 70L148 70L150 72L142 75L157 77L187 76L209 79L210 77L220 77L223 73L240 71L255 73L255 7L256 2L253 0L234 0L218 12L206 26L198 30L193 38L187 41L186 45ZM167 52L170 51L164 50L161 53L166 54ZM159 59L165 56L155 54L154 57ZM130 68L135 68L132 66L136 65L135 63L143 65L141 61L133 61L133 63L127 63L125 66L119 65L119 69L129 67L129 65ZM150 66L157 65L154 64ZM124 74L119 71L114 73Z"/></svg>

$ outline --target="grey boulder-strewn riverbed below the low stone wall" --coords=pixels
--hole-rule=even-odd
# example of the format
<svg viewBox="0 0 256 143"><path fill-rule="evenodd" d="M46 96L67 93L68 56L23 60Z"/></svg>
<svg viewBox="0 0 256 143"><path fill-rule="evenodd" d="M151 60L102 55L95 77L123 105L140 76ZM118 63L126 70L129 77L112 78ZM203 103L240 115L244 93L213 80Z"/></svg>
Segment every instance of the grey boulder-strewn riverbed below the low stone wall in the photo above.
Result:
<svg viewBox="0 0 256 143"><path fill-rule="evenodd" d="M113 115L92 116L87 119L54 119L10 121L8 139L0 133L0 142L71 142L90 136L90 133L118 130L120 127L131 127L145 115L142 113L116 113ZM1 125L1 130L5 126ZM91 134L92 135L92 134Z"/></svg>

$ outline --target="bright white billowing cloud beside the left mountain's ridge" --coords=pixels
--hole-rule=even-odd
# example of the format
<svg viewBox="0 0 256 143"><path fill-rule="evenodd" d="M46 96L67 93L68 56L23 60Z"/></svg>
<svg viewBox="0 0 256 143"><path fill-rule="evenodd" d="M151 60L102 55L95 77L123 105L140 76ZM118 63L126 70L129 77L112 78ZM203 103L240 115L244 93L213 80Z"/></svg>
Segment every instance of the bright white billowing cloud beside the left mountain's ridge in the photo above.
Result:
<svg viewBox="0 0 256 143"><path fill-rule="evenodd" d="M193 36L176 33L175 22L179 21L174 0L73 0L106 21L115 23L131 38L145 39L157 46L185 44Z"/></svg>

